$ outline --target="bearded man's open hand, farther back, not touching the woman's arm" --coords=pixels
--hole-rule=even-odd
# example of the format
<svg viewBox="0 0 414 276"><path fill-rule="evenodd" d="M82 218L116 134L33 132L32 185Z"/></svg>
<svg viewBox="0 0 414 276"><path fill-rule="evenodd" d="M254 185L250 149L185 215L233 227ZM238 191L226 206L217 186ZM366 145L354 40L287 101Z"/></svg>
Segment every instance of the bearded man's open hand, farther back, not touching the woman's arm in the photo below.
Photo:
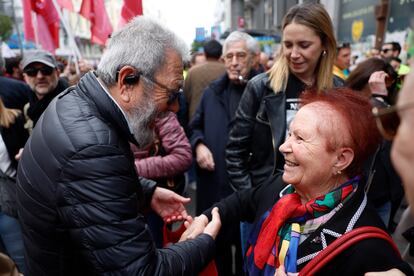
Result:
<svg viewBox="0 0 414 276"><path fill-rule="evenodd" d="M190 201L190 198L182 197L173 191L157 187L152 195L151 208L166 223L188 220L189 215L184 204Z"/></svg>

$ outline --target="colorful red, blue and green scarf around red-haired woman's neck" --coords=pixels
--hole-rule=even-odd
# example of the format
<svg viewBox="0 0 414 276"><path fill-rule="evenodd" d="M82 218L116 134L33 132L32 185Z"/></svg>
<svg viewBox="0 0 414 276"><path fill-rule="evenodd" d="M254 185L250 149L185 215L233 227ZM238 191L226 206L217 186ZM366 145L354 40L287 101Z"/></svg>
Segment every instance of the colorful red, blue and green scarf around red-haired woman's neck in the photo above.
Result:
<svg viewBox="0 0 414 276"><path fill-rule="evenodd" d="M286 272L297 272L300 224L328 214L344 203L352 196L358 182L359 177L354 177L305 204L301 203L293 186L288 187L285 195L262 216L250 234L246 252L248 275L274 275L280 264L284 264Z"/></svg>

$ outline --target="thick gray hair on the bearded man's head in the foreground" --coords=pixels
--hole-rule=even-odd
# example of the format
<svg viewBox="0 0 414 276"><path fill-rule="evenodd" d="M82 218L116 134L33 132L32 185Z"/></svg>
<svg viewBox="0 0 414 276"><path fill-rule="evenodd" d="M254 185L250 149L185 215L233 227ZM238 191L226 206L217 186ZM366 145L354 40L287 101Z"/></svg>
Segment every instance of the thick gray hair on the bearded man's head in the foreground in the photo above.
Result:
<svg viewBox="0 0 414 276"><path fill-rule="evenodd" d="M165 63L167 50L177 52L183 62L190 59L187 45L176 34L153 19L138 16L113 33L97 73L108 86L116 83L117 71L126 65L154 79L157 70Z"/></svg>

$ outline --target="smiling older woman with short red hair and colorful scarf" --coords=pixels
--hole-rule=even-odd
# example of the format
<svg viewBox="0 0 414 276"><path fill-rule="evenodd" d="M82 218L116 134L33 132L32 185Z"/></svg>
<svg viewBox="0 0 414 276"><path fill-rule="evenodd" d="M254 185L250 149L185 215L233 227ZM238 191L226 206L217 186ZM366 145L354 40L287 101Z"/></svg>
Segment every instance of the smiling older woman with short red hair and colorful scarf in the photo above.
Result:
<svg viewBox="0 0 414 276"><path fill-rule="evenodd" d="M368 100L344 88L305 93L301 103L279 147L284 172L216 204L222 221L216 242L238 221L254 223L246 253L248 275L301 272L343 234L363 226L385 229L367 207L362 180L363 164L379 142ZM208 212L194 220L184 237L207 225ZM392 268L413 274L390 243L371 238L345 249L318 275Z"/></svg>

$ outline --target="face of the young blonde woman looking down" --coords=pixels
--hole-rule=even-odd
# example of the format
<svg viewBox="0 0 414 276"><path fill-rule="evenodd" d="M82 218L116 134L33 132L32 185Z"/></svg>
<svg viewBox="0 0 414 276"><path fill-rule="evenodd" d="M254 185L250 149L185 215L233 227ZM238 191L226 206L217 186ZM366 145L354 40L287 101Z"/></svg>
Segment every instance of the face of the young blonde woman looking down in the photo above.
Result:
<svg viewBox="0 0 414 276"><path fill-rule="evenodd" d="M287 25L282 47L292 73L302 79L314 75L324 49L320 37L311 28L294 22Z"/></svg>

